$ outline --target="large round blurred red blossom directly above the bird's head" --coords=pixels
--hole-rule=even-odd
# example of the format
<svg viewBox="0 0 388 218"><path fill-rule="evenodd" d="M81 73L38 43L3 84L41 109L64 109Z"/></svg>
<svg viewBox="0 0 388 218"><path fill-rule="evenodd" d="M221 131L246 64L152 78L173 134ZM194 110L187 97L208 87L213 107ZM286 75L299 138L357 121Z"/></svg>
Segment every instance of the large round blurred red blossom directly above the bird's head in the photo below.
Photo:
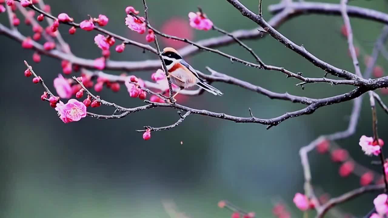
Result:
<svg viewBox="0 0 388 218"><path fill-rule="evenodd" d="M194 35L194 31L187 23L187 20L180 17L173 17L166 21L161 27L161 31L166 34L174 35L180 38L186 38L188 40L192 40ZM182 41L172 40L164 37L162 37L161 40L167 46L174 48L182 48L186 45L186 43Z"/></svg>

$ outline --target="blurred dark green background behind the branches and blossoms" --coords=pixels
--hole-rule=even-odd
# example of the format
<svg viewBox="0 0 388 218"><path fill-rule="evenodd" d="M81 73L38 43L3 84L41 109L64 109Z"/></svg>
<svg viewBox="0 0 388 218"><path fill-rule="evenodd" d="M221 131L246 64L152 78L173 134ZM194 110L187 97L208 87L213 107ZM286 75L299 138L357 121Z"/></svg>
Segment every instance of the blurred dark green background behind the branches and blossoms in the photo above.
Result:
<svg viewBox="0 0 388 218"><path fill-rule="evenodd" d="M106 29L146 43L145 35L130 31L124 24L125 7L133 5L142 11L141 0L46 0L45 3L52 6L54 15L67 12L76 21L87 18L88 14L106 14L109 17ZM195 12L197 6L203 8L216 26L227 31L255 28L255 23L242 17L222 0L148 0L147 3L150 22L159 29L177 20L186 21L186 26L181 28L187 29L187 14ZM242 0L242 3L253 11L257 10L257 0ZM273 3L278 1L263 0L263 16L267 20L272 17L267 7ZM387 2L383 0L357 0L351 1L351 4L383 12L388 9ZM19 30L31 35L30 27L25 26L23 20ZM7 15L0 14L0 21L8 25ZM364 71L363 56L371 53L383 24L352 17L351 22ZM341 35L342 24L340 16L301 15L278 29L320 59L354 72L346 40ZM100 49L93 40L96 32L78 30L74 36L70 36L68 26L61 25L59 29L74 54L90 59L100 57ZM179 28L173 30L175 32L172 33L177 35L188 34L180 33ZM192 30L193 40L212 36L218 36L218 33ZM60 61L42 56L42 62L35 64L32 61L33 51L23 50L20 43L5 36L0 36L0 39L3 74L0 81L0 215L6 218L165 218L168 215L161 204L163 199L173 200L180 211L193 218L229 217L229 211L217 207L217 202L222 199L247 211L255 211L257 217L273 217L271 208L281 200L288 205L292 217L301 217L302 213L292 203L296 192L303 193L303 172L298 150L321 134L344 130L352 109L352 101L323 107L312 115L289 119L270 130L263 125L238 124L192 115L177 128L153 132L151 140L144 141L135 129L144 125L170 125L178 119L176 110L158 108L131 114L124 119L97 120L88 117L80 122L64 124L56 112L40 100L42 87L23 76L26 68L23 60L26 59L48 81L49 88L53 88L53 79L62 72ZM303 72L304 76L324 75L321 69L270 36L246 43L267 64ZM161 44L168 45L164 41ZM238 45L221 50L253 61L248 52ZM141 49L127 46L123 54L117 54L112 49L111 58L136 61L155 59L156 55L149 52L143 54ZM282 73L257 70L239 63L231 64L228 59L209 52L187 58L187 61L203 72L205 66L210 66L274 92L320 98L341 94L352 88L310 84L301 90L295 86L299 81L287 79ZM388 67L383 57L379 57L377 64ZM150 80L151 73L134 74ZM184 104L236 116L249 116L250 107L259 118L272 118L304 107L282 100L270 100L223 83L213 85L225 94L214 97L205 93L185 99ZM143 104L139 99L130 98L125 87L121 87L119 93L105 88L100 95L103 99L127 107ZM382 95L382 98L388 102L388 97ZM112 112L107 107L88 110L105 114ZM379 133L387 141L387 116L379 108L378 117ZM367 97L364 97L355 135L340 140L338 145L348 149L359 163L377 171L376 166L369 164L371 158L363 155L359 148L359 137L364 134L372 135ZM331 196L359 187L359 177L351 175L341 178L338 175L339 165L332 163L328 155L322 156L313 151L309 157L314 185ZM376 195L366 194L337 208L362 216L372 208L372 199ZM313 215L310 213L310 216Z"/></svg>

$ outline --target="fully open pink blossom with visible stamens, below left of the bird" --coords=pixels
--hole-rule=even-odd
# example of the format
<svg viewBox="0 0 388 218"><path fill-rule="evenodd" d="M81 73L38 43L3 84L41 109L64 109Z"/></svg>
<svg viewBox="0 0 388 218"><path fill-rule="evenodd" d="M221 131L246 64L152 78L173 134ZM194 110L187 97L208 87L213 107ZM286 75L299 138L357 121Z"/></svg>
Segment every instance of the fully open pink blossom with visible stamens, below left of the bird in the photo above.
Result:
<svg viewBox="0 0 388 218"><path fill-rule="evenodd" d="M55 111L58 111L58 116L64 123L79 121L86 117L86 106L76 99L70 99L66 104L60 101Z"/></svg>

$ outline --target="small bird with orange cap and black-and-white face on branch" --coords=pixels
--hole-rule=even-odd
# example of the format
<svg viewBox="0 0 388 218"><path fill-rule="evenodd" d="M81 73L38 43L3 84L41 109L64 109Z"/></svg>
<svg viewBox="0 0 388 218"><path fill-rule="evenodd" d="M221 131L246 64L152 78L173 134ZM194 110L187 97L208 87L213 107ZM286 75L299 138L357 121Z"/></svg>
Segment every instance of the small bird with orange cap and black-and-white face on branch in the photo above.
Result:
<svg viewBox="0 0 388 218"><path fill-rule="evenodd" d="M203 88L213 95L223 95L220 90L212 87L211 85L205 83L201 78L199 78L196 70L190 66L190 64L185 62L182 59L182 56L180 56L180 54L174 48L164 48L161 55L167 67L168 77L171 79L173 84L180 88L180 90L178 90L178 92L173 95L173 98L177 96L181 90L192 87L194 85Z"/></svg>

